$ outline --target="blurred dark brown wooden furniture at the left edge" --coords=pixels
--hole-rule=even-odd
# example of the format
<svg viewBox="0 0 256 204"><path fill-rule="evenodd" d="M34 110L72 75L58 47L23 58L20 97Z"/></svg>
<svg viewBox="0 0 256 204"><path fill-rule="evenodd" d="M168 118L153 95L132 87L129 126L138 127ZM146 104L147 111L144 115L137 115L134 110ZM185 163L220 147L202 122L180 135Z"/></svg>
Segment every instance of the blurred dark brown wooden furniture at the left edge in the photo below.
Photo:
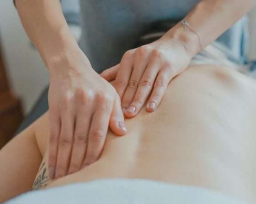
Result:
<svg viewBox="0 0 256 204"><path fill-rule="evenodd" d="M21 100L11 91L0 50L0 149L11 140L22 120Z"/></svg>

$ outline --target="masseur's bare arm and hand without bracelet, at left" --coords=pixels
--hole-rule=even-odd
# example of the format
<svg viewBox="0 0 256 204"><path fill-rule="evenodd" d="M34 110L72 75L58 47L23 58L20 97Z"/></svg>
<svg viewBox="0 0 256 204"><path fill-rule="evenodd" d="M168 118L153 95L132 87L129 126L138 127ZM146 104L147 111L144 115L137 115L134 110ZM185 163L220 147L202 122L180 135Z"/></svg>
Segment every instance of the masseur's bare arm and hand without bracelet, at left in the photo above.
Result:
<svg viewBox="0 0 256 204"><path fill-rule="evenodd" d="M108 125L126 133L120 101L80 50L59 0L16 0L16 7L50 73L48 166L59 178L98 159Z"/></svg>

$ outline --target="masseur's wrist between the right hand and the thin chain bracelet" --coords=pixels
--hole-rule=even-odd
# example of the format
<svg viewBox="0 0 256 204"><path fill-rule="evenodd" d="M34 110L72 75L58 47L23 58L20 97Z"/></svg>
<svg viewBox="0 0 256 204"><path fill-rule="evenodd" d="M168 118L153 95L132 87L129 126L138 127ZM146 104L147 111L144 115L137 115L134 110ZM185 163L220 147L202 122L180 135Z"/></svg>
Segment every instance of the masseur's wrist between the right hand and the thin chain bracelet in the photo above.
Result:
<svg viewBox="0 0 256 204"><path fill-rule="evenodd" d="M196 33L185 30L181 22L171 28L163 37L169 37L182 44L191 57L194 57L198 52L201 52L201 42Z"/></svg>

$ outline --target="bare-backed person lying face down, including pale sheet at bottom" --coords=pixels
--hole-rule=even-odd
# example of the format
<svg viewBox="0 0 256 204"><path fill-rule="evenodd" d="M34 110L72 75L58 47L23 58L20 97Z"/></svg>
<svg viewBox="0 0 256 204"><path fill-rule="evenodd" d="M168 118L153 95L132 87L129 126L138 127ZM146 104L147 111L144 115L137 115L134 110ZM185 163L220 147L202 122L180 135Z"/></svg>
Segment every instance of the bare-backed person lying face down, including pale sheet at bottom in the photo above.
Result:
<svg viewBox="0 0 256 204"><path fill-rule="evenodd" d="M107 133L101 157L48 176L48 113L0 151L0 202L256 203L256 82L221 65L190 65L159 108ZM27 202L26 202L27 201Z"/></svg>

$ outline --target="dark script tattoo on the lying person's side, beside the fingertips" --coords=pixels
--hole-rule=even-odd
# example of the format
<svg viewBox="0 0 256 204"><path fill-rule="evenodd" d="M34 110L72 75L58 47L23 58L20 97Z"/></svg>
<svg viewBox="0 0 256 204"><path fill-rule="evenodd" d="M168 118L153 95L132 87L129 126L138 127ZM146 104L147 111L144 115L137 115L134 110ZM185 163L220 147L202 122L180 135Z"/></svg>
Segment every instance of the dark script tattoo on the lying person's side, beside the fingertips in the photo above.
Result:
<svg viewBox="0 0 256 204"><path fill-rule="evenodd" d="M48 173L46 173L46 171L47 167L45 162L43 162L38 170L37 177L32 186L32 190L38 190L47 186L51 179L48 177Z"/></svg>

